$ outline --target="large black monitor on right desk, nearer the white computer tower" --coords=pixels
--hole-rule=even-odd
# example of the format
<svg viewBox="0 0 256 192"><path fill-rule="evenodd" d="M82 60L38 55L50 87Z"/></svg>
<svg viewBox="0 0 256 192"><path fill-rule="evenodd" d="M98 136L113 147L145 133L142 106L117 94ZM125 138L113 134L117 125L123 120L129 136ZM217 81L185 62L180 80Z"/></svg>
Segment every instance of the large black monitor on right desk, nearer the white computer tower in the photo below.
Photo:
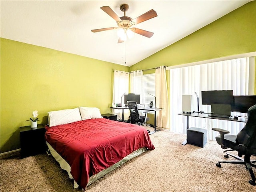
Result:
<svg viewBox="0 0 256 192"><path fill-rule="evenodd" d="M211 104L234 105L233 90L202 91L202 105Z"/></svg>

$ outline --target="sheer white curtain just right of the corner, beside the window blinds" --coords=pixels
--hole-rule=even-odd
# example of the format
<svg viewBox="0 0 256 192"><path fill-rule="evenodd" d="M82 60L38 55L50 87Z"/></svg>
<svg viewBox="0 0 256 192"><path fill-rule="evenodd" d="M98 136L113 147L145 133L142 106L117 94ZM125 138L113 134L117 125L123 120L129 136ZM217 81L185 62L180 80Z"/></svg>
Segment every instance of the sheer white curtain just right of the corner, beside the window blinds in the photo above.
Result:
<svg viewBox="0 0 256 192"><path fill-rule="evenodd" d="M140 95L140 103L144 103L143 97L143 71L136 70L130 73L130 92Z"/></svg>

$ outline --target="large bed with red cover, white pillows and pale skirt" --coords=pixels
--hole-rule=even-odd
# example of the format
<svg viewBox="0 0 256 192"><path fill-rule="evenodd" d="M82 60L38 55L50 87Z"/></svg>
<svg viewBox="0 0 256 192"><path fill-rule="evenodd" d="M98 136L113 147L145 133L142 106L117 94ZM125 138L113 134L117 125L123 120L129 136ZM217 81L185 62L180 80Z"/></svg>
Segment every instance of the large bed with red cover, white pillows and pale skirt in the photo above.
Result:
<svg viewBox="0 0 256 192"><path fill-rule="evenodd" d="M102 118L98 108L48 112L46 144L74 179L74 187L90 183L146 150L154 150L147 130Z"/></svg>

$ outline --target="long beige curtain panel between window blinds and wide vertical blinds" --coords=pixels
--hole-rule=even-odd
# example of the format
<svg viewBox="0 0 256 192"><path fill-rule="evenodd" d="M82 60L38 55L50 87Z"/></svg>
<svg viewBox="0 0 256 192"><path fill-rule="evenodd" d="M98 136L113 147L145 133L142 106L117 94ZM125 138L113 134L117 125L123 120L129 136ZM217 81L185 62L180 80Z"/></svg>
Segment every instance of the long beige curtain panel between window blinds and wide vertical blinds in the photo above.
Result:
<svg viewBox="0 0 256 192"><path fill-rule="evenodd" d="M156 107L163 108L163 110L157 112L156 126L162 128L170 128L170 116L169 116L169 102L168 102L168 90L166 80L166 67L160 66L156 68Z"/></svg>

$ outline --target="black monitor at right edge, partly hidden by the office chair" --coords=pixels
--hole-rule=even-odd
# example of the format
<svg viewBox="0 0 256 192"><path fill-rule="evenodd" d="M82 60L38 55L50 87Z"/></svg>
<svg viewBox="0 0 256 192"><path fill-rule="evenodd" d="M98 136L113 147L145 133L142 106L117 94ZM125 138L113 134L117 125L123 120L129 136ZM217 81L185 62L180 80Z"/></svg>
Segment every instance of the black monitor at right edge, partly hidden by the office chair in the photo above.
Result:
<svg viewBox="0 0 256 192"><path fill-rule="evenodd" d="M256 95L234 96L234 106L232 106L231 111L247 113L253 105L256 105Z"/></svg>

